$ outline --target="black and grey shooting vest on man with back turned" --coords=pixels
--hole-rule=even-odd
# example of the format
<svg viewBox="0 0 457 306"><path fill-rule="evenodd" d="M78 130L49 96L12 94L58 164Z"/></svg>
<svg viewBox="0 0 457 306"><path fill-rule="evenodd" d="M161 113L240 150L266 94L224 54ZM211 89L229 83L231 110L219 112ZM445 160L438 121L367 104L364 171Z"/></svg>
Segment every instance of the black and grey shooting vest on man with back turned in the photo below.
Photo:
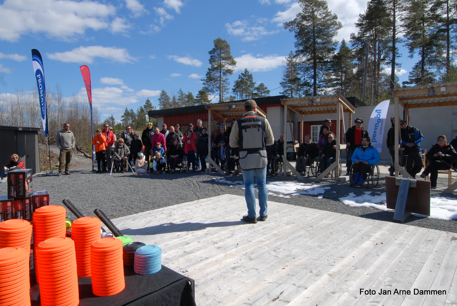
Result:
<svg viewBox="0 0 457 306"><path fill-rule="evenodd" d="M265 147L265 118L254 112L239 118L239 165L243 170L263 169L267 165Z"/></svg>

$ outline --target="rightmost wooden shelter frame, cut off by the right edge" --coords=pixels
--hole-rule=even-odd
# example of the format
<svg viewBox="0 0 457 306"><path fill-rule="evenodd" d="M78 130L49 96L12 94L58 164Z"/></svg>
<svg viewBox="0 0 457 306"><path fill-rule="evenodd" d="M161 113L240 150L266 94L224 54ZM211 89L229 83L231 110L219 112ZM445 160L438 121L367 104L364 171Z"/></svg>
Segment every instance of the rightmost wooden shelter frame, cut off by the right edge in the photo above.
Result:
<svg viewBox="0 0 457 306"><path fill-rule="evenodd" d="M400 105L404 109L404 120L409 121L409 109L422 107L439 107L439 106L457 106L457 82L428 84L414 87L397 88L393 90L395 99L395 119L400 118ZM399 139L400 124L395 120L394 139ZM404 177L413 179L399 165L400 145L395 149L395 176L402 174ZM446 192L452 192L457 189L457 182L449 186Z"/></svg>

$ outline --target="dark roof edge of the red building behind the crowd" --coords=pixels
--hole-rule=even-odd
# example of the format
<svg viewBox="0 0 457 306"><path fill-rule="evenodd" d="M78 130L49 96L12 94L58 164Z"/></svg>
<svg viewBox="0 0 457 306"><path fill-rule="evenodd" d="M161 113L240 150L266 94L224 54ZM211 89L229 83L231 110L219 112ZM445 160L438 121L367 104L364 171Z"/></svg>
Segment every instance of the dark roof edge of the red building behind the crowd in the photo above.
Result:
<svg viewBox="0 0 457 306"><path fill-rule="evenodd" d="M264 105L272 105L272 104L281 104L281 99L287 99L287 95L273 95L270 97L264 97L264 98L256 98L253 99L255 100L255 103L257 103L258 106L264 106ZM233 103L242 103L246 100L249 99L244 99L244 100L236 100L236 101L228 101L224 103L211 103L208 105L230 105ZM178 114L184 114L184 113L197 113L200 111L207 111L205 105L196 105L196 106L186 106L186 107L177 107L177 108L170 108L166 110L157 110L157 111L149 111L148 115L149 117L161 117L161 116L168 116L168 115L178 115Z"/></svg>

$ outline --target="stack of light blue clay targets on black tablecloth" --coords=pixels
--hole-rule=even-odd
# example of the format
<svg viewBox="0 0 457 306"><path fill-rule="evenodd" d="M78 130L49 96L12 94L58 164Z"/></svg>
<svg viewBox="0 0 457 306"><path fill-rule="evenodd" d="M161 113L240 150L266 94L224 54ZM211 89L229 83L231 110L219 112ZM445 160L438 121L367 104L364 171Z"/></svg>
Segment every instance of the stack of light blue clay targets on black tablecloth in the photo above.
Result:
<svg viewBox="0 0 457 306"><path fill-rule="evenodd" d="M154 274L162 269L162 250L156 245L145 245L135 251L133 270L136 274Z"/></svg>

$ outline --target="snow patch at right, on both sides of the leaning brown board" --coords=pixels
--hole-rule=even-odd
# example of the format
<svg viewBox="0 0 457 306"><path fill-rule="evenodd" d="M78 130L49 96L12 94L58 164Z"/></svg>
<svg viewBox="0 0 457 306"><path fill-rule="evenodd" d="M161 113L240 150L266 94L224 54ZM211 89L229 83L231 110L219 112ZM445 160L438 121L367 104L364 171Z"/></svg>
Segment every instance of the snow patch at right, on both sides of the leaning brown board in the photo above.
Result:
<svg viewBox="0 0 457 306"><path fill-rule="evenodd" d="M373 207L387 211L386 193L381 195L371 195L371 191L366 191L364 195L356 196L354 193L340 198L340 201L349 206ZM389 209L390 210L390 209ZM423 216L414 214L415 216ZM438 220L457 219L457 199L445 198L442 196L430 197L430 216L423 216Z"/></svg>

